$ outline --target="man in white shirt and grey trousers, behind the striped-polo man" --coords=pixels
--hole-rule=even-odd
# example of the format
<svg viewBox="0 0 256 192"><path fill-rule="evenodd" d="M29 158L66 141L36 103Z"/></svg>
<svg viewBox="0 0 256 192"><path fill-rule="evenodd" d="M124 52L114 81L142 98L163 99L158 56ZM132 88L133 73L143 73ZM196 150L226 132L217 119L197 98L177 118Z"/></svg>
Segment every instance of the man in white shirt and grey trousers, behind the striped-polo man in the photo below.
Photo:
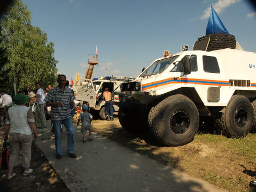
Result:
<svg viewBox="0 0 256 192"><path fill-rule="evenodd" d="M44 90L41 88L41 85L38 82L35 83L35 86L37 89L36 98L35 98L35 102L37 103L36 111L35 111L36 126L38 128L46 128L47 125L46 125L45 112L44 112L44 108L45 108Z"/></svg>

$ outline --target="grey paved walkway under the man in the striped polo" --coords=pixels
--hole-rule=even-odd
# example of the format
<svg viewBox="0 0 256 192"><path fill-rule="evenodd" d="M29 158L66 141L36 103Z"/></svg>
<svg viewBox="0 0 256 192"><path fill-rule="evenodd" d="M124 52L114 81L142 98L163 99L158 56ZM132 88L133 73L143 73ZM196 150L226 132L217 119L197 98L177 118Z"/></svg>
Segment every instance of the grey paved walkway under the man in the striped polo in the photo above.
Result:
<svg viewBox="0 0 256 192"><path fill-rule="evenodd" d="M49 121L47 123L50 125ZM64 128L63 155L61 160L57 160L54 135L49 130L45 130L44 137L51 139L37 140L35 143L72 192L224 192L206 181L164 166L98 134L93 134L92 142L87 140L83 144L76 125L74 152L77 158L70 158L65 153L67 134Z"/></svg>

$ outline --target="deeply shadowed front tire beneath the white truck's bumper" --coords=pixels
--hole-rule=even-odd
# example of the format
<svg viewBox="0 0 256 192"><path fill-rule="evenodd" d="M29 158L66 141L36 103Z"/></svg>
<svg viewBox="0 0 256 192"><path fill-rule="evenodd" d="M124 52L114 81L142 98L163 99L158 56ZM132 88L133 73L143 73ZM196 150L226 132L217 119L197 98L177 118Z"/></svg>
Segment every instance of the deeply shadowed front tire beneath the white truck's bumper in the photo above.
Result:
<svg viewBox="0 0 256 192"><path fill-rule="evenodd" d="M140 109L119 107L118 119L122 127L131 134L137 134L147 129L147 113Z"/></svg>

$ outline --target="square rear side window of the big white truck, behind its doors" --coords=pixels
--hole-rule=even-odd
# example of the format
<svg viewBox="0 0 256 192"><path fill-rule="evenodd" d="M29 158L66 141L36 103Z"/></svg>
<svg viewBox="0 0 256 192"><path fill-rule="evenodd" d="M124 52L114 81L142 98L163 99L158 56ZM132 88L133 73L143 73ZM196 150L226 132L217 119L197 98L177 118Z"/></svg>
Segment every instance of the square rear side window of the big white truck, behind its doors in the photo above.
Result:
<svg viewBox="0 0 256 192"><path fill-rule="evenodd" d="M204 71L208 73L220 73L220 68L216 57L203 56Z"/></svg>

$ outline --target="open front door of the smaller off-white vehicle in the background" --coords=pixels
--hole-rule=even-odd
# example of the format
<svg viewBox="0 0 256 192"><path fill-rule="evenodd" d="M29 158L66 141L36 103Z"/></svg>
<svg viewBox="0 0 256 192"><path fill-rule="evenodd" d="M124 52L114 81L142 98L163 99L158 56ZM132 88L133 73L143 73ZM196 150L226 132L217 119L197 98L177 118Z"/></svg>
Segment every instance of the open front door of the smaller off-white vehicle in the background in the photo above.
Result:
<svg viewBox="0 0 256 192"><path fill-rule="evenodd" d="M96 93L91 79L85 79L83 87L77 89L76 100L88 102L91 108L95 108Z"/></svg>

